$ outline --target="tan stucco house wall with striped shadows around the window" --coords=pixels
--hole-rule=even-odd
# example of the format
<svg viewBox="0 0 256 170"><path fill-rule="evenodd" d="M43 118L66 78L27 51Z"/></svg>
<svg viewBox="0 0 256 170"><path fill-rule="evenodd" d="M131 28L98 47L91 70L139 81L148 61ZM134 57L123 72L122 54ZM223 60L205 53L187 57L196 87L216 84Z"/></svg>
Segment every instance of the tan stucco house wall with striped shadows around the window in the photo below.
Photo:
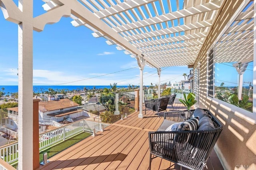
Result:
<svg viewBox="0 0 256 170"><path fill-rule="evenodd" d="M242 2L226 0L194 63L196 67L201 62L199 107L209 109L224 125L215 150L226 170L256 170L256 125L237 111L207 97L207 52Z"/></svg>

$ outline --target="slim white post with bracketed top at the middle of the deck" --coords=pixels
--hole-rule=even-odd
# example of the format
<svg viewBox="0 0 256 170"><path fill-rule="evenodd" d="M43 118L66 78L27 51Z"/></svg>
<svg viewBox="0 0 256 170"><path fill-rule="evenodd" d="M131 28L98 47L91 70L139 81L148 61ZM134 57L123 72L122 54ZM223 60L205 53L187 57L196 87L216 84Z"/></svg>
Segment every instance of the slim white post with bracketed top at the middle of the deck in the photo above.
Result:
<svg viewBox="0 0 256 170"><path fill-rule="evenodd" d="M138 65L140 67L140 106L139 106L139 110L140 110L140 113L138 115L139 118L143 118L143 114L142 114L142 104L143 104L143 94L144 94L144 91L143 91L143 70L144 70L144 66L146 65L146 61L144 61L143 59L143 55L142 55L142 58L140 58L138 55L136 55L136 59L137 59L137 62L138 62Z"/></svg>

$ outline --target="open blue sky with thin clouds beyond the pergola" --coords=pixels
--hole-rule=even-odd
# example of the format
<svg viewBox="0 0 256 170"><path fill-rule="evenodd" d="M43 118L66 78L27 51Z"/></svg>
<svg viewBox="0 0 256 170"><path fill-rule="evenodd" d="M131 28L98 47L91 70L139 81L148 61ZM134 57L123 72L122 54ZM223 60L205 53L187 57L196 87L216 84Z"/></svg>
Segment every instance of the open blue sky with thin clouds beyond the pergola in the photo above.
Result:
<svg viewBox="0 0 256 170"><path fill-rule="evenodd" d="M45 12L42 4L34 0L34 16ZM62 18L58 23L46 25L40 33L34 31L34 85L139 84L140 70L134 58L118 51L115 45L107 45L106 39L94 38L90 29L72 26L70 21L71 18ZM17 30L18 26L4 20L0 12L0 85L18 85ZM184 80L182 74L189 73L187 66L162 70L161 84ZM108 74L112 72L117 73ZM146 66L144 73L144 85L158 83L156 68ZM104 74L108 75L93 78Z"/></svg>

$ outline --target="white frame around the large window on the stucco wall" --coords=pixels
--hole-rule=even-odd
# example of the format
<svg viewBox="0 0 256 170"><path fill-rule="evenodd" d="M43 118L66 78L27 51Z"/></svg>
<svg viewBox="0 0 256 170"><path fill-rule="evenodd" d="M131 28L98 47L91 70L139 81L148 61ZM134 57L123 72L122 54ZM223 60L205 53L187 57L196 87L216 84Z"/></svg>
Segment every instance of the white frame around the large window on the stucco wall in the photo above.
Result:
<svg viewBox="0 0 256 170"><path fill-rule="evenodd" d="M218 37L215 39L215 41L213 42L212 46L210 47L210 49L207 51L207 71L206 71L206 78L207 78L207 99L210 100L211 102L217 103L220 106L223 106L225 109L227 109L228 111L232 111L234 112L235 115L240 116L241 118L244 118L248 121L251 121L253 123L256 124L256 97L253 98L253 103L252 103L252 112L247 111L245 109L242 109L240 107L234 106L232 104L229 104L227 102L224 102L222 100L219 100L217 98L214 98L214 91L213 91L213 98L209 96L209 54L210 51L212 50L212 48L215 51L215 45L216 43L220 40L220 38L222 37L222 35L226 32L226 30L230 27L230 25L234 22L234 20L238 17L238 15L244 10L244 8L247 6L247 4L250 2L250 0L245 0L240 7L238 8L238 10L234 13L234 15L232 16L232 18L230 19L230 21L227 23L227 25L224 27L224 29L220 32L220 34L218 35ZM255 5L254 5L255 6ZM256 10L256 9L254 9ZM256 14L256 12L254 11L254 15ZM256 26L256 18L254 18L254 27ZM256 68L256 45L255 45L255 41L256 41L256 33L255 33L255 28L254 28L254 57L253 57L253 66L254 68ZM215 54L214 54L215 55ZM215 63L214 63L215 65ZM214 74L214 65L213 65L213 74ZM215 76L213 77L215 78ZM253 96L255 96L256 94L256 83L254 83L254 80L256 80L256 72L253 72ZM215 81L213 86L215 86ZM213 87L214 88L214 87Z"/></svg>

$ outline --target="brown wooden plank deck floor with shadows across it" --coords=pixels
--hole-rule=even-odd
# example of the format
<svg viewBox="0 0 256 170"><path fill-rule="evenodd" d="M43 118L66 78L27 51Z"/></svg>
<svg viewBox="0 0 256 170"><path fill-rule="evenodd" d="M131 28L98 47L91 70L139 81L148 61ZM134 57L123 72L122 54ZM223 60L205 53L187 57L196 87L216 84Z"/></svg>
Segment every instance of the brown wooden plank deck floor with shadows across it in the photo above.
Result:
<svg viewBox="0 0 256 170"><path fill-rule="evenodd" d="M184 109L181 104L174 104L174 109ZM168 106L168 110L170 109ZM88 137L72 147L50 158L41 170L147 170L149 164L148 131L158 129L163 117L156 112L147 111L143 119L138 112L128 115L124 120L113 123L95 137ZM207 162L208 170L223 169L213 151ZM155 158L152 170L185 170L172 162Z"/></svg>

